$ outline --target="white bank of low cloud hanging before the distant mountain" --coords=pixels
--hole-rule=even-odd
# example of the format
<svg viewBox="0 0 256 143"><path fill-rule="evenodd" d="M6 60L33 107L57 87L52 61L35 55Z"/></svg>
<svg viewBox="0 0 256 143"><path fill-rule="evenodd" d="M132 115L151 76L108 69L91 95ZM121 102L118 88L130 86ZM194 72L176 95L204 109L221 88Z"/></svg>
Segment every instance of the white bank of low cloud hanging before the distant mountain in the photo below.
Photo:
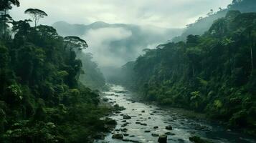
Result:
<svg viewBox="0 0 256 143"><path fill-rule="evenodd" d="M120 66L125 64L124 57L126 47L112 47L110 44L114 41L120 41L132 36L132 32L122 27L90 29L85 33L83 39L86 39L89 48L87 52L94 55L94 59L100 66ZM115 48L115 50L113 50Z"/></svg>

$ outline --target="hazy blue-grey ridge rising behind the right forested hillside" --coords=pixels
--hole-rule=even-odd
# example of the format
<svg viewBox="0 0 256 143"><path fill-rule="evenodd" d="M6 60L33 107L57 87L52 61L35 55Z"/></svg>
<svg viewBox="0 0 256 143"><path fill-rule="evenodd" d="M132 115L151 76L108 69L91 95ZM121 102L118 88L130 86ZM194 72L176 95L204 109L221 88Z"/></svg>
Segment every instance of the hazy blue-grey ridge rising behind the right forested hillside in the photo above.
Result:
<svg viewBox="0 0 256 143"><path fill-rule="evenodd" d="M202 35L205 31L208 31L213 22L219 18L224 17L227 11L239 10L242 13L255 12L256 11L256 0L234 0L227 9L221 9L215 14L209 14L204 18L199 18L194 24L190 24L181 36L176 36L172 41L186 41L186 36L190 34Z"/></svg>

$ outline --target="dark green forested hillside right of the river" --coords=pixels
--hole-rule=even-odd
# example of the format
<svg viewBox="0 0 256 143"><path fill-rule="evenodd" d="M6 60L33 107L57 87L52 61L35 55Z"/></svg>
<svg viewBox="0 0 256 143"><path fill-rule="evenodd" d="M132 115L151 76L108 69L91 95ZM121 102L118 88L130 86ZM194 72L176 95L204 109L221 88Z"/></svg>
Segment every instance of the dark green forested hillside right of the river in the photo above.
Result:
<svg viewBox="0 0 256 143"><path fill-rule="evenodd" d="M229 11L202 36L144 51L123 66L126 87L256 133L256 13Z"/></svg>

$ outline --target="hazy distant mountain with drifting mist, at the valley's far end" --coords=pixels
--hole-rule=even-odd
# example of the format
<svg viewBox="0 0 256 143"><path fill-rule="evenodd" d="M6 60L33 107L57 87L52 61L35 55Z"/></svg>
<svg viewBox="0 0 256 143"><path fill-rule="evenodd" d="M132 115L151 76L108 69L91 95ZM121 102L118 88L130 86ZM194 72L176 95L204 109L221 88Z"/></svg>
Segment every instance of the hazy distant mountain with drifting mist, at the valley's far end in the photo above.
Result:
<svg viewBox="0 0 256 143"><path fill-rule="evenodd" d="M62 36L81 36L88 41L88 51L93 53L100 66L121 66L136 59L143 49L155 48L183 31L156 26L107 24L103 21L89 25L58 21L52 26Z"/></svg>

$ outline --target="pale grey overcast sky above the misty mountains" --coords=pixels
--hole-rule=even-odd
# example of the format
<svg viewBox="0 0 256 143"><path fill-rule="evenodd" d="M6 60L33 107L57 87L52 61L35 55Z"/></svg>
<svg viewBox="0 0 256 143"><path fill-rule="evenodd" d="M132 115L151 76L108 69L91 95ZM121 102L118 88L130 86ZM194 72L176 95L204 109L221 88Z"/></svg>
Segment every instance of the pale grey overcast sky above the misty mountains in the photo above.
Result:
<svg viewBox="0 0 256 143"><path fill-rule="evenodd" d="M14 19L28 19L28 8L42 9L49 15L41 24L67 21L90 24L95 21L152 25L168 28L184 27L205 16L210 9L226 8L232 0L22 0L11 10Z"/></svg>

